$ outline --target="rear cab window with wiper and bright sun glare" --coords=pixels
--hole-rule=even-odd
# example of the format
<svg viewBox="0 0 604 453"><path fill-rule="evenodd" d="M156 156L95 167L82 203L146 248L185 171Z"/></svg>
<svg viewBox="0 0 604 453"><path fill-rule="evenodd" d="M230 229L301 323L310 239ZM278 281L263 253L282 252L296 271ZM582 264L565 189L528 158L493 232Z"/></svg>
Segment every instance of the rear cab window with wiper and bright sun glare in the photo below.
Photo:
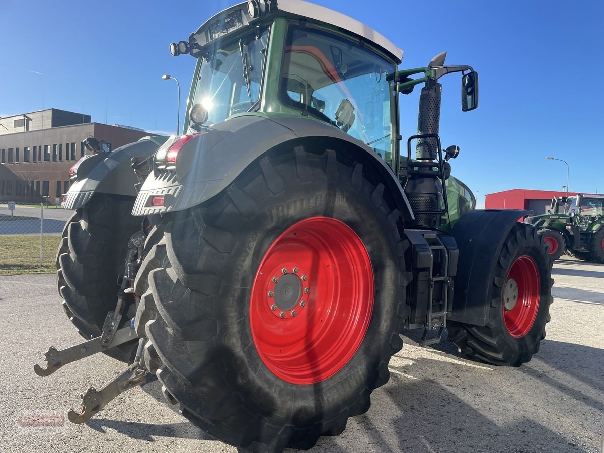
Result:
<svg viewBox="0 0 604 453"><path fill-rule="evenodd" d="M268 30L258 38L217 39L201 61L192 104L202 104L215 124L249 111L258 100Z"/></svg>

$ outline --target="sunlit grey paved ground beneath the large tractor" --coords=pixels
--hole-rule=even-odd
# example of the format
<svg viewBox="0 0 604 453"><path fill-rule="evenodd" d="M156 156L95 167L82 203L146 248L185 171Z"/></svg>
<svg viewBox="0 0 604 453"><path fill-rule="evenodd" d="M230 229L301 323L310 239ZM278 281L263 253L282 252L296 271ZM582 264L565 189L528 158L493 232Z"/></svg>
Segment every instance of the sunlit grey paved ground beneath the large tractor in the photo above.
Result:
<svg viewBox="0 0 604 453"><path fill-rule="evenodd" d="M604 266L564 259L553 272L551 323L529 364L484 366L458 356L449 342L420 349L417 337L407 336L371 410L311 452L600 452ZM79 341L59 302L53 275L0 278L2 452L235 452L165 405L157 382L122 394L87 425L19 427L19 416L65 415L80 391L121 368L98 356L51 377L34 375L31 365L49 345Z"/></svg>

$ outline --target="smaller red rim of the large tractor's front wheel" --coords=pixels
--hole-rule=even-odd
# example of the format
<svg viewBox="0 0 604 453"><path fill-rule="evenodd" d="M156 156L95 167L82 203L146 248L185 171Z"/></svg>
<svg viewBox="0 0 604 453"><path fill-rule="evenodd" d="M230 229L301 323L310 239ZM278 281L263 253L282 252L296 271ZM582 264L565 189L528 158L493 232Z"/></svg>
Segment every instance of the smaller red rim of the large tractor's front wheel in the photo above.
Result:
<svg viewBox="0 0 604 453"><path fill-rule="evenodd" d="M503 288L503 318L507 331L515 338L526 335L535 322L541 298L541 283L535 261L522 255L516 258Z"/></svg>

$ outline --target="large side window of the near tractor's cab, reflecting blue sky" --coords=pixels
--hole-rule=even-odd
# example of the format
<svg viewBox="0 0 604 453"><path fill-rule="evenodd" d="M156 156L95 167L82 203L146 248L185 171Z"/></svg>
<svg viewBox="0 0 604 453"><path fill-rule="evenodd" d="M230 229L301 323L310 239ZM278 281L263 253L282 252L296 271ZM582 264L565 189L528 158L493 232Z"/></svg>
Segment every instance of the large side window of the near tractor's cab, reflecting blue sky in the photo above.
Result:
<svg viewBox="0 0 604 453"><path fill-rule="evenodd" d="M326 121L392 161L394 63L367 47L308 27L290 25L281 99Z"/></svg>

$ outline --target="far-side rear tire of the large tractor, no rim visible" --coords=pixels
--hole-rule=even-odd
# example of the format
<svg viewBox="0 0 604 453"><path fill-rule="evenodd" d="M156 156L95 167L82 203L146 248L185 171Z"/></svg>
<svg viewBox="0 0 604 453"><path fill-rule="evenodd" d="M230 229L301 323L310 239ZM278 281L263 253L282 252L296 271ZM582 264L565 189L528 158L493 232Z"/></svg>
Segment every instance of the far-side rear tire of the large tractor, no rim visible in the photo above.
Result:
<svg viewBox="0 0 604 453"><path fill-rule="evenodd" d="M86 339L100 335L107 312L115 310L128 240L141 228L140 217L130 214L133 204L132 197L95 194L63 228L56 257L57 286L66 315ZM135 314L132 295L126 295L123 313L120 327ZM132 341L106 354L132 362L136 349L137 342Z"/></svg>

